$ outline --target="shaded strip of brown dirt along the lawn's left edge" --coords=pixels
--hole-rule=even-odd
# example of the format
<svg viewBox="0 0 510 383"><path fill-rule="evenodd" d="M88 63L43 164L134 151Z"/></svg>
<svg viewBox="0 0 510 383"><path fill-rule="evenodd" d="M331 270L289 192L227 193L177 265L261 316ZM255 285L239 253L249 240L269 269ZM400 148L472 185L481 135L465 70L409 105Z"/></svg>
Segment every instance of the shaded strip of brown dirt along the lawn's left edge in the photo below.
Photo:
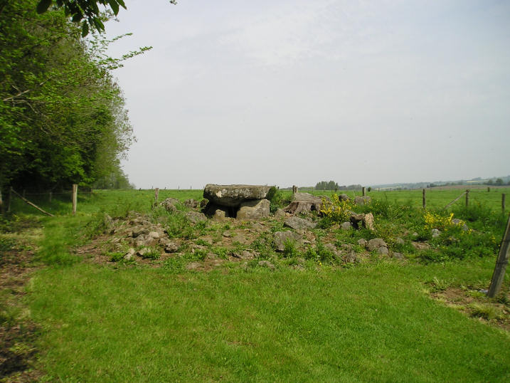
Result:
<svg viewBox="0 0 510 383"><path fill-rule="evenodd" d="M33 267L34 238L40 229L22 225L20 231L0 233L0 380L33 382L41 376L35 368L38 326L21 303Z"/></svg>

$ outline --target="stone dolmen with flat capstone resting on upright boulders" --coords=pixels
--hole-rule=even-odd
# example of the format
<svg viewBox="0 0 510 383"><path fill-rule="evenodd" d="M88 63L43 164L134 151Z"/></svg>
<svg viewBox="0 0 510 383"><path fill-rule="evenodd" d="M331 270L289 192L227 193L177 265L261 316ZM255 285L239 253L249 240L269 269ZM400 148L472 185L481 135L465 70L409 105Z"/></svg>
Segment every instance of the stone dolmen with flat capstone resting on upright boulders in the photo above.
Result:
<svg viewBox="0 0 510 383"><path fill-rule="evenodd" d="M203 198L208 200L204 213L216 219L261 219L269 216L270 187L262 185L207 184Z"/></svg>

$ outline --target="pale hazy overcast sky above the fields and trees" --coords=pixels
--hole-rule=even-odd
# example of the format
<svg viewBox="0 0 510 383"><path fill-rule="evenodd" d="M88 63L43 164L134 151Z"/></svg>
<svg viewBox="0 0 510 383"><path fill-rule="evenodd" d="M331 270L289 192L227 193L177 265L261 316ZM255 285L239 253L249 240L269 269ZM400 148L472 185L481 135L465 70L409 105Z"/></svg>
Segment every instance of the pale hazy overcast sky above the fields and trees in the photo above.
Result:
<svg viewBox="0 0 510 383"><path fill-rule="evenodd" d="M510 1L125 3L137 187L510 174Z"/></svg>

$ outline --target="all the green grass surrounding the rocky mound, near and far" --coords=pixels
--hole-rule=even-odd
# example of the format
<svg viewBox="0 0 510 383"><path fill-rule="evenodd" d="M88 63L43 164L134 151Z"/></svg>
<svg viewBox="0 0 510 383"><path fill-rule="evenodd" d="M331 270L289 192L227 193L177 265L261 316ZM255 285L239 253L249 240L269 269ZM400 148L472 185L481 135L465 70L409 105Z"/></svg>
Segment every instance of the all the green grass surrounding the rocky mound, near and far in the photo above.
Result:
<svg viewBox="0 0 510 383"><path fill-rule="evenodd" d="M428 206L445 206L461 192L427 192ZM492 246L492 255L477 256L474 243L486 246L489 233L501 236L501 192L471 194L478 215L472 213L476 220L469 225L477 237L461 242L472 246L470 256L456 258L454 252L423 262L405 239L402 248L395 247L405 261L367 253L357 264L312 259L296 268L302 253L271 253L274 271L256 262L241 267L231 257L204 272L166 267L167 261L97 263L73 251L94 238L93 224L103 213L150 214L150 190L81 194L77 216L68 214L67 197L55 196L51 204L41 198L41 207L55 218L13 201L17 218L2 221L2 256L15 248L33 252L38 269L28 273L23 287L3 291L0 318L4 327L23 320L36 324L36 339L20 339L10 352L24 355L35 348L38 357L29 367L47 381L506 382L510 337L497 325L499 317L480 320L431 295L455 287L484 305L508 305L508 277L498 302L478 292L489 285L496 251ZM385 238L414 217L402 216L400 204L421 206L420 191L368 194L384 202L374 215ZM201 191L161 190L160 200L166 196L200 199ZM453 206L456 216L466 214L462 201ZM279 225L271 221L266 227ZM26 226L35 227L33 237L23 236ZM211 223L201 232L220 231L221 237L224 226L235 229L233 222ZM332 236L336 243L369 235L344 234L335 226L314 230L317 238Z"/></svg>

